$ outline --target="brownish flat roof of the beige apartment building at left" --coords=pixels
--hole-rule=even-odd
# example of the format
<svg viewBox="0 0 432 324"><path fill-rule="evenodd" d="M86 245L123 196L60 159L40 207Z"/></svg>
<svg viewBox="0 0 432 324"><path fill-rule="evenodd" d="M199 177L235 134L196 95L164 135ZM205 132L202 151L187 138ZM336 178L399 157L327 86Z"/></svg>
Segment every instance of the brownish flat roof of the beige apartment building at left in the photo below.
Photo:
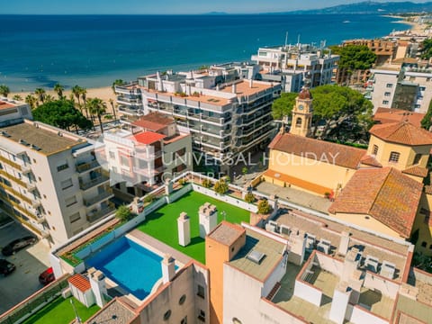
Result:
<svg viewBox="0 0 432 324"><path fill-rule="evenodd" d="M20 139L24 140L29 145L35 145L40 148L40 153L51 154L58 151L72 148L78 144L83 144L85 141L79 141L78 138L71 139L68 136L58 136L56 130L44 130L37 128L30 123L23 122L20 124L6 126L1 129L7 132L10 137L4 139L14 140L20 143ZM61 131L61 130L60 130ZM21 144L24 147L31 148L31 146Z"/></svg>

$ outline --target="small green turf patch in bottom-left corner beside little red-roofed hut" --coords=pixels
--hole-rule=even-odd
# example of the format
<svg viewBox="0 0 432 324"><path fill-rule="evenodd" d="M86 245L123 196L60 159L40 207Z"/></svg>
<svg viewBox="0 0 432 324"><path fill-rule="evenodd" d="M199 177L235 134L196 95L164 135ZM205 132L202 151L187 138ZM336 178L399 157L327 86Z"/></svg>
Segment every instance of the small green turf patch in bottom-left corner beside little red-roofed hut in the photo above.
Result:
<svg viewBox="0 0 432 324"><path fill-rule="evenodd" d="M75 312L70 304L69 297L66 300L63 297L58 297L53 302L49 302L44 308L31 315L30 318L23 321L23 324L68 324L75 319ZM93 305L90 308L86 308L81 302L78 302L73 298L76 311L82 322L88 320L93 316L96 311L100 308L97 305Z"/></svg>

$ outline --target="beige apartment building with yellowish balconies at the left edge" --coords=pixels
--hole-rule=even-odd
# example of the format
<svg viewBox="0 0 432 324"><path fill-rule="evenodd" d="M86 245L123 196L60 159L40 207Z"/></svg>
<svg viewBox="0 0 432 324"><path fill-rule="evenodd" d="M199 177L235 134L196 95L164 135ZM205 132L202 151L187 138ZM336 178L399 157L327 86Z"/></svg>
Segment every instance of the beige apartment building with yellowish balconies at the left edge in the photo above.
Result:
<svg viewBox="0 0 432 324"><path fill-rule="evenodd" d="M28 107L14 109L25 112ZM31 117L28 111L24 115ZM109 177L95 161L94 143L39 121L2 122L9 123L0 129L4 213L47 244L58 244L113 211Z"/></svg>

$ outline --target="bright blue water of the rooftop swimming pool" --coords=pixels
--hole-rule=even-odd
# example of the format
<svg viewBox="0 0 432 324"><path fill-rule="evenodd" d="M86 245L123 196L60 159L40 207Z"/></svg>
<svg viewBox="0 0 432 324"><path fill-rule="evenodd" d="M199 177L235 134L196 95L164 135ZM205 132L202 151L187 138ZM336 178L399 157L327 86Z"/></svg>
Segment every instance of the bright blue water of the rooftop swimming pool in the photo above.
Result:
<svg viewBox="0 0 432 324"><path fill-rule="evenodd" d="M143 300L162 277L162 257L128 238L119 238L85 260L121 288Z"/></svg>

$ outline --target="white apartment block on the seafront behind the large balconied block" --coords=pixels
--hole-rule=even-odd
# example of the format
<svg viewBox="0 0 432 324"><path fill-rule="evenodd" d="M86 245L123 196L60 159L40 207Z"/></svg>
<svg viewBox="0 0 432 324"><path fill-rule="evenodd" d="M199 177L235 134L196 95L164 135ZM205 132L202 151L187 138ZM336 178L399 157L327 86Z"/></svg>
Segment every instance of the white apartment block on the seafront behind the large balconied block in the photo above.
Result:
<svg viewBox="0 0 432 324"><path fill-rule="evenodd" d="M304 79L311 87L335 81L338 55L325 54L309 44L259 48L252 61L262 68L263 80L278 81L284 92L300 92Z"/></svg>

